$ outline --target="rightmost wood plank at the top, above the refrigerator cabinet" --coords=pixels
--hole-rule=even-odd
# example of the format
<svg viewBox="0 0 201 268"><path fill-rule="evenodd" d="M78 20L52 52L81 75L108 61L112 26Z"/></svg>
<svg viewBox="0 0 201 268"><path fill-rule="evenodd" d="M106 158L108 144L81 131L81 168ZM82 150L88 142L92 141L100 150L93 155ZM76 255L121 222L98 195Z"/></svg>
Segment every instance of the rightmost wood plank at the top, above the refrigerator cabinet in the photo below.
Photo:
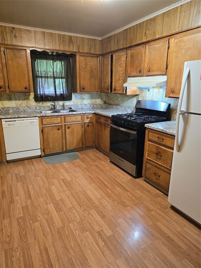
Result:
<svg viewBox="0 0 201 268"><path fill-rule="evenodd" d="M191 1L191 9L189 15L188 28L201 24L201 1Z"/></svg>

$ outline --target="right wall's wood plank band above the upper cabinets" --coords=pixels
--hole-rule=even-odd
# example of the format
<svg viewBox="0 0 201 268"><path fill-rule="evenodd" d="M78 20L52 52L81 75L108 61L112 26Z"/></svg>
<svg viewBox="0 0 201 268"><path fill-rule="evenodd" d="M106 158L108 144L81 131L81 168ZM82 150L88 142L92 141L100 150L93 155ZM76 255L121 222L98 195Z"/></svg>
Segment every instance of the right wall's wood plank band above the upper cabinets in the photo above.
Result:
<svg viewBox="0 0 201 268"><path fill-rule="evenodd" d="M200 0L193 0L144 20L101 41L101 53L132 46L201 24Z"/></svg>

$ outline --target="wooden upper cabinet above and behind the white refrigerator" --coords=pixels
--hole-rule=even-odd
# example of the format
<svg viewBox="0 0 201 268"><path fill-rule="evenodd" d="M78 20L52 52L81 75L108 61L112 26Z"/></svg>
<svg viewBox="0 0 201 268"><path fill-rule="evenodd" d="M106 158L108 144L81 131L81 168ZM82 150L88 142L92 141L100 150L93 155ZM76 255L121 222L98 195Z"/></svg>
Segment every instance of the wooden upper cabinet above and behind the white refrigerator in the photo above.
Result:
<svg viewBox="0 0 201 268"><path fill-rule="evenodd" d="M200 44L200 28L177 34L170 39L166 97L179 98L184 63L201 59Z"/></svg>

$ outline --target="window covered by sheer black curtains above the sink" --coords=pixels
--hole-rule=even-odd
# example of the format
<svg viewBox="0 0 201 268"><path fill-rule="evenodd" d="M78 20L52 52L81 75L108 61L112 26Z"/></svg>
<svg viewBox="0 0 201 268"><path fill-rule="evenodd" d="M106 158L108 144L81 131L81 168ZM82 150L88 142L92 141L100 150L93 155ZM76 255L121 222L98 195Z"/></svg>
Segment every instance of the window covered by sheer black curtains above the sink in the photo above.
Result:
<svg viewBox="0 0 201 268"><path fill-rule="evenodd" d="M55 53L54 53L55 54ZM72 100L70 56L65 53L31 51L35 101Z"/></svg>

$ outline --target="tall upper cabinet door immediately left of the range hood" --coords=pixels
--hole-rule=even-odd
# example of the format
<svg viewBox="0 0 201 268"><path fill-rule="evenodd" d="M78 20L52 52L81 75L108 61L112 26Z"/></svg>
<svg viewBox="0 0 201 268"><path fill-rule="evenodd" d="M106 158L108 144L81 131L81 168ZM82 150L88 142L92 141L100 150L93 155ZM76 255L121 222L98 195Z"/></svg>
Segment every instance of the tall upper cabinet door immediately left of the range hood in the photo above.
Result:
<svg viewBox="0 0 201 268"><path fill-rule="evenodd" d="M112 93L125 94L126 50L113 54Z"/></svg>

